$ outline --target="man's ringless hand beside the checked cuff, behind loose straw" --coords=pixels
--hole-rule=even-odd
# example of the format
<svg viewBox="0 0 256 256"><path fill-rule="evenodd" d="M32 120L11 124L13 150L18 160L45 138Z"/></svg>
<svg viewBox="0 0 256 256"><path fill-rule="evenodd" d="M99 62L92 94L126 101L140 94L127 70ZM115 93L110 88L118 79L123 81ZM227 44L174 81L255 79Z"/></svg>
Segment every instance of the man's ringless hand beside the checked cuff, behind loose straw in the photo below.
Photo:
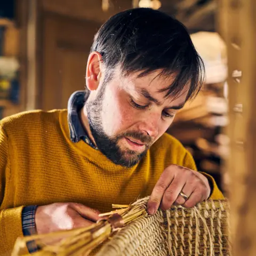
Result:
<svg viewBox="0 0 256 256"><path fill-rule="evenodd" d="M87 227L100 219L100 212L83 204L55 203L38 206L35 222L38 234Z"/></svg>

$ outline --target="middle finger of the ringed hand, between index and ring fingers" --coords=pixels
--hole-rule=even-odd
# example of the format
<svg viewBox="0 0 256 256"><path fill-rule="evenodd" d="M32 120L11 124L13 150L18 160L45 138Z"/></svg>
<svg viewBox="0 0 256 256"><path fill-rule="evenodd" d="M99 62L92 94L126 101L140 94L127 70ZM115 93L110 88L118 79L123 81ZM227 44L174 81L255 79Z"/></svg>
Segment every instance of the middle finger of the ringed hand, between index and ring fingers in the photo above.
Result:
<svg viewBox="0 0 256 256"><path fill-rule="evenodd" d="M173 179L170 186L165 190L160 205L162 210L165 211L171 208L172 204L178 199L180 191L185 186L186 180L187 178L185 175L178 175Z"/></svg>

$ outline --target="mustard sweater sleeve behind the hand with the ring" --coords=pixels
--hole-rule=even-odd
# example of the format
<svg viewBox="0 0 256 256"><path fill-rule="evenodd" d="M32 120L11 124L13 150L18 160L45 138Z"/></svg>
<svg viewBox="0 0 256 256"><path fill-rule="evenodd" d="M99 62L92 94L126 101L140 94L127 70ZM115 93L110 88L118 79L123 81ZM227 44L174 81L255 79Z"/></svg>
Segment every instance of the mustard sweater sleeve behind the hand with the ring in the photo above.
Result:
<svg viewBox="0 0 256 256"><path fill-rule="evenodd" d="M191 170L197 171L194 158L191 156L191 154L188 151L185 155L183 166L187 167ZM209 199L225 199L225 197L222 195L220 189L218 188L217 183L211 177L211 175L204 173L204 172L200 172L200 173L202 173L207 178L207 180L209 181L209 184L211 186L211 195L210 195Z"/></svg>

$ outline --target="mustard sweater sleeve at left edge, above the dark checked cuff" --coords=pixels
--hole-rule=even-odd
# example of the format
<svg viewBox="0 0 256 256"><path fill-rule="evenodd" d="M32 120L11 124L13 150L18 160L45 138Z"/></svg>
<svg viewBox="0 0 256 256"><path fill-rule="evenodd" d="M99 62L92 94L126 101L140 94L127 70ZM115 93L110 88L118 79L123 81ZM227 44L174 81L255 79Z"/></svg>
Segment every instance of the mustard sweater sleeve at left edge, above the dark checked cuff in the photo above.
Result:
<svg viewBox="0 0 256 256"><path fill-rule="evenodd" d="M22 236L23 206L5 209L4 193L10 177L10 157L7 135L0 123L0 255L10 255L17 237Z"/></svg>

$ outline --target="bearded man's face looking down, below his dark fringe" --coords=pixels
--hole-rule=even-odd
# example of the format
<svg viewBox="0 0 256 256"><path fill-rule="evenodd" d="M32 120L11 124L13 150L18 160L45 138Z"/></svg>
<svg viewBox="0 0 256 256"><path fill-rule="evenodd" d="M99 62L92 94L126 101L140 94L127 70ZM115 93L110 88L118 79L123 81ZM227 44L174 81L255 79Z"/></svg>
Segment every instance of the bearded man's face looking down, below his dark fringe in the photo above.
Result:
<svg viewBox="0 0 256 256"><path fill-rule="evenodd" d="M86 102L90 129L99 150L115 164L130 167L139 162L163 135L186 100L187 88L175 98L159 92L174 77L157 76L159 71L138 78L116 68ZM103 79L103 78L102 78Z"/></svg>

